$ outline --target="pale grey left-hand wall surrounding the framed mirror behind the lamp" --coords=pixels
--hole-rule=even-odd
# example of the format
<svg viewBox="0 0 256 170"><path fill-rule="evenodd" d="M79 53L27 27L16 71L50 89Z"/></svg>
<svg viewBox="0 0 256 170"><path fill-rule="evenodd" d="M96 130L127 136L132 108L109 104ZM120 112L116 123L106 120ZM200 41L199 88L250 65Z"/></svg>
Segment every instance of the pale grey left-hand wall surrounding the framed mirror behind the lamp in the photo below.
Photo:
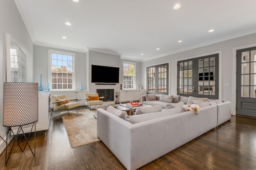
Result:
<svg viewBox="0 0 256 170"><path fill-rule="evenodd" d="M13 39L27 54L27 81L33 82L33 43L20 16L14 0L0 1L0 135L6 136L6 127L3 126L3 82L6 81L5 66L5 33ZM0 152L5 144L0 139Z"/></svg>

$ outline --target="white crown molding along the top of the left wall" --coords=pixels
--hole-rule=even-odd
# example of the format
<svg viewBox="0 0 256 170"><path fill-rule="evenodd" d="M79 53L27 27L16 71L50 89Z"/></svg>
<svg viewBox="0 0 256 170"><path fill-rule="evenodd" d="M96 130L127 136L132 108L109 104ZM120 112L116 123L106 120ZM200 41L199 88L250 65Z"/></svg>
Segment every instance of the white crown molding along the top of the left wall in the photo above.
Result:
<svg viewBox="0 0 256 170"><path fill-rule="evenodd" d="M34 34L33 28L31 26L31 23L30 23L30 20L28 18L28 15L26 13L26 10L24 8L24 5L23 5L21 0L14 0L14 1L16 3L18 11L20 12L20 16L21 16L21 18L22 18L22 20L23 20L23 22L24 22L24 24L25 24L25 26L28 30L28 34L30 36L30 39L32 40L33 43L35 43L36 42L36 36Z"/></svg>

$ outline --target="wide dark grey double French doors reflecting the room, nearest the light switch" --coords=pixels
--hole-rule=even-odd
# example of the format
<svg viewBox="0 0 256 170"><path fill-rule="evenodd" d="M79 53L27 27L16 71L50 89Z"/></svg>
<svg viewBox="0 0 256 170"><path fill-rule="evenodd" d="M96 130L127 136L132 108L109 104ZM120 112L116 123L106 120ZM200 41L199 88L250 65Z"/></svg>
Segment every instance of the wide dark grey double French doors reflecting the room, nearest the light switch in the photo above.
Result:
<svg viewBox="0 0 256 170"><path fill-rule="evenodd" d="M219 55L178 61L177 94L218 99Z"/></svg>

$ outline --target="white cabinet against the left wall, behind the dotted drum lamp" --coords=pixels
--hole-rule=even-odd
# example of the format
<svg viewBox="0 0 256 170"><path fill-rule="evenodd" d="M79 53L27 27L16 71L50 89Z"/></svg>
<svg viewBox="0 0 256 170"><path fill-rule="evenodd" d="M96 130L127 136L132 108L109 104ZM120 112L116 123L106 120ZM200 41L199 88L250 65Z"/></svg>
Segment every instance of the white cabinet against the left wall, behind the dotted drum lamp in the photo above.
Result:
<svg viewBox="0 0 256 170"><path fill-rule="evenodd" d="M49 92L39 92L38 93L38 121L36 121L36 131L43 131L49 129L49 120L50 120L50 93ZM23 125L22 129L24 133L29 133L32 127L32 123L28 125ZM17 133L18 127L12 127L13 133ZM34 132L34 127L32 129ZM22 132L21 132L22 133Z"/></svg>

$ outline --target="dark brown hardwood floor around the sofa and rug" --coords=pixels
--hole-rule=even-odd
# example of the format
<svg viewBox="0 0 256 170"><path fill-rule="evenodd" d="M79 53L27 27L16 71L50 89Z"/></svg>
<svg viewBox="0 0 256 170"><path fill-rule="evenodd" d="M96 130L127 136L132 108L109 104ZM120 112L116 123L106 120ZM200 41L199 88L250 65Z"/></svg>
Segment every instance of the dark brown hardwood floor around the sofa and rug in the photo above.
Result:
<svg viewBox="0 0 256 170"><path fill-rule="evenodd" d="M32 148L33 141L30 139ZM0 156L1 170L125 169L101 141L71 149L60 111L52 114L46 136L44 131L36 133L35 156L28 147L21 152L15 145L8 164L4 161L5 152ZM256 119L232 116L231 121L218 129L212 129L140 168L149 169L256 169Z"/></svg>

